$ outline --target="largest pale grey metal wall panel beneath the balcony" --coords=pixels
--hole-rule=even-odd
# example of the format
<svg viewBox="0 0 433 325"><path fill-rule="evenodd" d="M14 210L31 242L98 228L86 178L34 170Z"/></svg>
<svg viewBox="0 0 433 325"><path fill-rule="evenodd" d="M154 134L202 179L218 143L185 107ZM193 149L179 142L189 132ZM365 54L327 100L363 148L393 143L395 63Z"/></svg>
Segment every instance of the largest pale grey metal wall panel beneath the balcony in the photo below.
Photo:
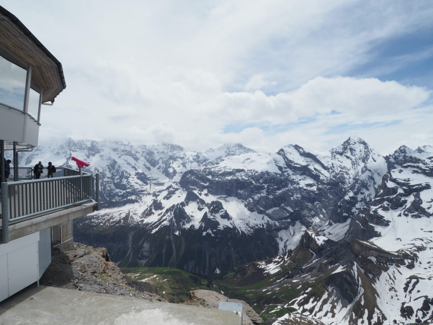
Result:
<svg viewBox="0 0 433 325"><path fill-rule="evenodd" d="M38 243L34 242L7 254L9 295L38 280Z"/></svg>

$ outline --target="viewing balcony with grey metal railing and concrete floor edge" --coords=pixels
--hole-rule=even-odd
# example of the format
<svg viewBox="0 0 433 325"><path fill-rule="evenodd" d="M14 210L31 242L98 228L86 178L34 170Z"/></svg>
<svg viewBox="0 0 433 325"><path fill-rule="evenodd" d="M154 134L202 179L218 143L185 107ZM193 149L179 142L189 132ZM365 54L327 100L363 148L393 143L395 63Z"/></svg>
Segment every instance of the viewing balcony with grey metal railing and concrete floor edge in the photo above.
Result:
<svg viewBox="0 0 433 325"><path fill-rule="evenodd" d="M13 172L10 178L14 178ZM31 179L33 168L19 167L19 181L1 184L2 243L96 210L97 184L92 174L57 168L54 177L46 178L47 172L44 168L41 179ZM52 236L54 240L56 236ZM64 239L58 240L62 243Z"/></svg>

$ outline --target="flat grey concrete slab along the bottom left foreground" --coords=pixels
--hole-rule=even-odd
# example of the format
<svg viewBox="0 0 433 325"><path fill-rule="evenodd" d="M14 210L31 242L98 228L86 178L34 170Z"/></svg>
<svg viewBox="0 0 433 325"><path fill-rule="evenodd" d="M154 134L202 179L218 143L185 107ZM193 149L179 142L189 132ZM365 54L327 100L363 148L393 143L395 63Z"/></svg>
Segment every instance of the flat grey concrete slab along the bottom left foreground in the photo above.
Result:
<svg viewBox="0 0 433 325"><path fill-rule="evenodd" d="M29 287L0 303L1 325L240 325L234 312L88 291Z"/></svg>

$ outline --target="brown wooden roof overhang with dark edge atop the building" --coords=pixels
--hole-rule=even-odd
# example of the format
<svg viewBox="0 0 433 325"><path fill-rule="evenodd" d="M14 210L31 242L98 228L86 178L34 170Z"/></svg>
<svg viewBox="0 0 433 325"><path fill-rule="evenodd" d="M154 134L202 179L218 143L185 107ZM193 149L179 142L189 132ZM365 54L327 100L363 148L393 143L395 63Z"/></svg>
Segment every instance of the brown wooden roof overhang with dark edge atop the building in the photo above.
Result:
<svg viewBox="0 0 433 325"><path fill-rule="evenodd" d="M61 63L13 14L0 6L0 43L7 52L2 56L11 62L32 67L32 84L42 88L42 102L53 102L66 88ZM1 49L0 49L1 51ZM18 57L19 60L14 59ZM22 66L27 68L26 66Z"/></svg>

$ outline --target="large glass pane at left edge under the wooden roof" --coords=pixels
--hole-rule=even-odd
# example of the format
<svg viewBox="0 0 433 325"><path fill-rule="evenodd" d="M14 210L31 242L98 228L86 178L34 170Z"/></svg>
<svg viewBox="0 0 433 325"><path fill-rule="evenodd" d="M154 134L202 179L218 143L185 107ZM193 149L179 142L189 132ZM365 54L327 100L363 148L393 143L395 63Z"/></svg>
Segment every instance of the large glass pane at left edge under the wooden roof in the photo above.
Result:
<svg viewBox="0 0 433 325"><path fill-rule="evenodd" d="M23 109L27 71L0 56L0 102Z"/></svg>

